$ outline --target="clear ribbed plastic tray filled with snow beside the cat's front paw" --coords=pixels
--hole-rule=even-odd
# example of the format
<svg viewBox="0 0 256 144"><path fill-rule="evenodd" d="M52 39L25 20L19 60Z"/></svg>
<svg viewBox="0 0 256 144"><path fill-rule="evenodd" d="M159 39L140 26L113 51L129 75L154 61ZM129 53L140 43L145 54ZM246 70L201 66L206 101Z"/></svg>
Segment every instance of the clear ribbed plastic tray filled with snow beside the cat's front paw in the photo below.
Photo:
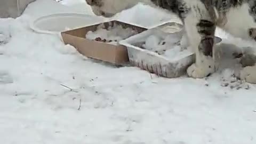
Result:
<svg viewBox="0 0 256 144"><path fill-rule="evenodd" d="M182 48L179 45L181 37L180 33L170 34L160 29L149 29L120 41L119 44L127 47L129 60L133 66L158 76L174 78L186 74L187 68L195 61L195 54L189 50L189 47ZM167 41L161 41L161 39ZM215 37L215 43L219 42L221 38ZM160 49L150 50L150 47L159 43L162 45L173 43L173 45L166 44L165 50L161 46L159 46Z"/></svg>

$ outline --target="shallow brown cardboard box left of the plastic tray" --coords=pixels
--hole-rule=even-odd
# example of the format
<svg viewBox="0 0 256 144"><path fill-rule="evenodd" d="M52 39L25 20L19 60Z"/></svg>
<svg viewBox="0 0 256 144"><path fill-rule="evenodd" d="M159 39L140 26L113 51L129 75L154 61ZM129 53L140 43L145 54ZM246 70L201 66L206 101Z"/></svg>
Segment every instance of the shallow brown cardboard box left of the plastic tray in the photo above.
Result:
<svg viewBox="0 0 256 144"><path fill-rule="evenodd" d="M74 46L77 51L85 55L85 57L114 63L116 65L129 62L126 46L98 42L85 38L88 31L95 31L101 24L103 24L105 27L114 26L114 24L121 25L123 28L129 27L138 31L138 34L147 30L146 28L114 20L98 23L97 25L93 26L64 31L61 33L63 42L65 44Z"/></svg>

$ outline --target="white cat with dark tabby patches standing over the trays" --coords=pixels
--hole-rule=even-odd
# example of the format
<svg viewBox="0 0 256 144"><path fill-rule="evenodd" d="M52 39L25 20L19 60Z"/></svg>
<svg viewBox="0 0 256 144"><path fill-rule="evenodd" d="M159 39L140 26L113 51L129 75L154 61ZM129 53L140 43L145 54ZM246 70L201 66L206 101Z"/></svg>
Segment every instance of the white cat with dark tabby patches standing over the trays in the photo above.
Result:
<svg viewBox="0 0 256 144"><path fill-rule="evenodd" d="M217 69L214 62L214 34L218 26L243 39L256 41L256 0L86 0L96 15L114 14L145 3L178 15L185 26L188 42L196 54L196 61L187 74L204 78ZM256 83L256 66L244 67L240 78Z"/></svg>

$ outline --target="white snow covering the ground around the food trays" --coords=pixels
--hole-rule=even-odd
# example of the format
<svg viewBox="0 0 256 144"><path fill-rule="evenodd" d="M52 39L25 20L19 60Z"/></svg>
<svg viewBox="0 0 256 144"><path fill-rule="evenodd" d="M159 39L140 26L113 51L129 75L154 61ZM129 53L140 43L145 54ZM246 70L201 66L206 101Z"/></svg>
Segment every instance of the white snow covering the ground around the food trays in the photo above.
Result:
<svg viewBox="0 0 256 144"><path fill-rule="evenodd" d="M49 1L31 4L20 18L0 19L0 30L12 36L0 45L1 143L256 142L255 85L221 86L232 69L207 79L166 79L135 67L95 63L57 36L29 29L31 17L58 12L58 6L46 12L42 3ZM142 7L138 17L124 12L121 19L142 25L151 17L145 13Z"/></svg>

